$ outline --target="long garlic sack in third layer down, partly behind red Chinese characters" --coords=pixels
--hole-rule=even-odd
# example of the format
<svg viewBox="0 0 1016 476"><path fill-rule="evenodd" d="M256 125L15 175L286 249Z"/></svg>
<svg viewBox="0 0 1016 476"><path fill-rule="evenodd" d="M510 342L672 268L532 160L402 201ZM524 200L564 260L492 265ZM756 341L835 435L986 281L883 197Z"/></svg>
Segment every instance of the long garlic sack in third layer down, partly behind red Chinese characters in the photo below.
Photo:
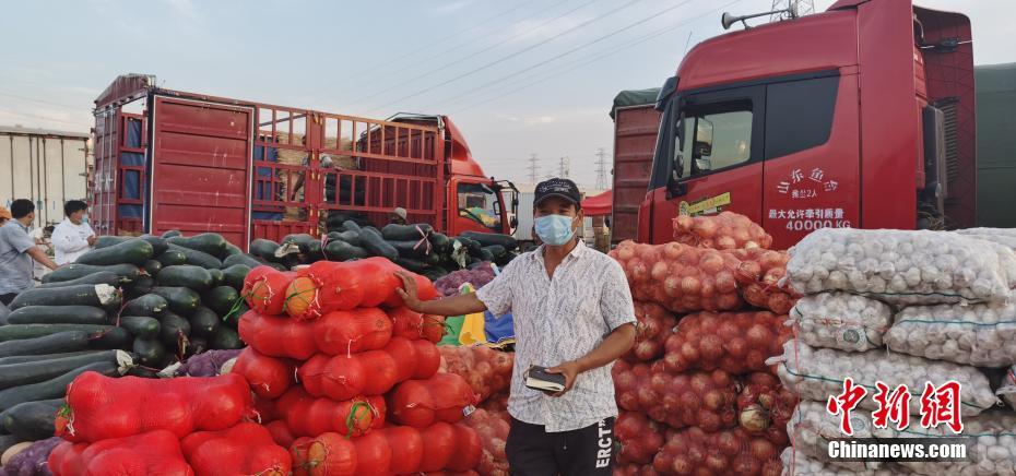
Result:
<svg viewBox="0 0 1016 476"><path fill-rule="evenodd" d="M928 382L935 385L950 380L958 382L962 389L960 413L964 417L974 416L999 402L988 378L974 367L885 350L848 353L813 348L792 340L783 344L783 355L772 357L766 364L778 365L780 381L801 400L826 402L829 395L840 394L843 381L851 378L854 384L867 389L869 395L876 392L876 381L889 388L906 384L911 392L911 415L920 415L921 392ZM878 406L874 398L865 397L858 408L875 410Z"/></svg>

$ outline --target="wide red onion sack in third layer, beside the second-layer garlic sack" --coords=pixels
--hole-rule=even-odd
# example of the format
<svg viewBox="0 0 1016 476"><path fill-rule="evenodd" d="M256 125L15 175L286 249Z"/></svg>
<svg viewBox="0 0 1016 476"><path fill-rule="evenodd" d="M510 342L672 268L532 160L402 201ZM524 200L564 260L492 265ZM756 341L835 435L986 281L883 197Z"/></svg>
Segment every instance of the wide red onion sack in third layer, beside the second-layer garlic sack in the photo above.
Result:
<svg viewBox="0 0 1016 476"><path fill-rule="evenodd" d="M684 317L668 337L668 371L720 369L729 373L768 371L766 359L783 354L793 331L787 316L758 312L699 312Z"/></svg>

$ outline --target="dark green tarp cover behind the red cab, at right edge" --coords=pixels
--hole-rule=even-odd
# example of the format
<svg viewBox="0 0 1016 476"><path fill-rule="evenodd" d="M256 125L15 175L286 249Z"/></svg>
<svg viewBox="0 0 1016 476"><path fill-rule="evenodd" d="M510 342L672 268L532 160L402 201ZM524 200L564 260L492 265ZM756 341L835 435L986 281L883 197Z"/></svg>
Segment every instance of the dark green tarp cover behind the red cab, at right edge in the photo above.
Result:
<svg viewBox="0 0 1016 476"><path fill-rule="evenodd" d="M1016 227L1016 63L976 67L978 225Z"/></svg>

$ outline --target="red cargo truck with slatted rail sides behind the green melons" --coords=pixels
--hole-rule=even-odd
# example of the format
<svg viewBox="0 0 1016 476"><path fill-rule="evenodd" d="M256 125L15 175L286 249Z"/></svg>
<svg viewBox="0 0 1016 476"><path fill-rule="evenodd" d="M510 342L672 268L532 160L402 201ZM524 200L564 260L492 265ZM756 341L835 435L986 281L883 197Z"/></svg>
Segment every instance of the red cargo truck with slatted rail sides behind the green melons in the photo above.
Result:
<svg viewBox="0 0 1016 476"><path fill-rule="evenodd" d="M486 177L447 116L368 119L117 78L95 100L93 228L101 235L319 235L394 207L449 235L511 234L515 186Z"/></svg>

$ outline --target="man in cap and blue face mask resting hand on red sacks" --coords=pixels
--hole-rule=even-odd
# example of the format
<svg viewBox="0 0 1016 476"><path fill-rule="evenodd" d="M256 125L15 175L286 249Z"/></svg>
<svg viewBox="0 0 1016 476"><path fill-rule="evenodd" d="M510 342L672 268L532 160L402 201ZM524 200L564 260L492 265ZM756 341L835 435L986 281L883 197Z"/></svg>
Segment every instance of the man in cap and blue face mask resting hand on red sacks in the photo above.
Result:
<svg viewBox="0 0 1016 476"><path fill-rule="evenodd" d="M583 215L575 182L541 182L533 210L543 245L512 260L479 291L421 301L415 282L402 275L400 295L406 307L428 314L513 314L506 444L512 475L610 475L617 416L611 367L635 343L631 293L616 261L576 238ZM525 386L530 366L563 374L565 390L550 394Z"/></svg>

